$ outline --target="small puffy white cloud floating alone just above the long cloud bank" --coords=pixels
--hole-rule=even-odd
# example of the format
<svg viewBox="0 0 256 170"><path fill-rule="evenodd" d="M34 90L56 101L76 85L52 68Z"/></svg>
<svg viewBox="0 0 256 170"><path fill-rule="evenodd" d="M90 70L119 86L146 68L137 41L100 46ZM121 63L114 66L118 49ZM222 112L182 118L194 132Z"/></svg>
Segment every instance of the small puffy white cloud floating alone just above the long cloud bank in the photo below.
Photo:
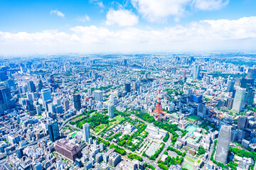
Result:
<svg viewBox="0 0 256 170"><path fill-rule="evenodd" d="M117 11L110 9L107 12L107 26L135 26L138 21L139 19L134 13L125 9L119 9Z"/></svg>

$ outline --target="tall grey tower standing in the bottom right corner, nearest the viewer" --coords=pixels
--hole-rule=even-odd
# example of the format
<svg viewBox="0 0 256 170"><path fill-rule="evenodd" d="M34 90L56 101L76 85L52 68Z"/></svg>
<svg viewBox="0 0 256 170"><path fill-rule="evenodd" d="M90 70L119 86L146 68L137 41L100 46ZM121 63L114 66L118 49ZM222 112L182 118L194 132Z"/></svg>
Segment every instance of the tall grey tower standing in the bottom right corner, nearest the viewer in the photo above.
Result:
<svg viewBox="0 0 256 170"><path fill-rule="evenodd" d="M214 156L216 162L223 164L227 162L230 136L231 127L228 125L222 125L220 128L220 134L218 137L217 148Z"/></svg>

